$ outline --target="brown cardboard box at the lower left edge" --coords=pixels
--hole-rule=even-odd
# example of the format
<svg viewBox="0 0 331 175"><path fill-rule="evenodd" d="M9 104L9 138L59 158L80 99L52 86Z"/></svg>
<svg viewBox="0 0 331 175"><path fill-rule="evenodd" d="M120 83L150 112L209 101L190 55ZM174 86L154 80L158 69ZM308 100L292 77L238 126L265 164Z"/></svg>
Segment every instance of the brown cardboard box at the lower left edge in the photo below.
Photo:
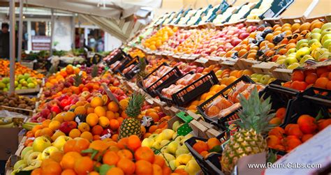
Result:
<svg viewBox="0 0 331 175"><path fill-rule="evenodd" d="M20 128L0 128L0 160L8 160L10 155L15 154L19 132Z"/></svg>

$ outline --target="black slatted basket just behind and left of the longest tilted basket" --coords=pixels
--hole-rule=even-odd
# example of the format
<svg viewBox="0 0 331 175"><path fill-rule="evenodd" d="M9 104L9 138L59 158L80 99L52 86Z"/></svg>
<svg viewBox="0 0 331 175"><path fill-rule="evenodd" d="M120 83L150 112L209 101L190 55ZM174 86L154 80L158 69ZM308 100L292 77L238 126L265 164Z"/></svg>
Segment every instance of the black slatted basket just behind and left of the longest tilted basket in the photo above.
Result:
<svg viewBox="0 0 331 175"><path fill-rule="evenodd" d="M150 75L153 75L162 66L168 66L168 64L167 63L162 63L158 68L153 70L152 73L149 73L149 75L147 75L144 79L147 79ZM157 96L157 93L156 93L157 89L165 88L169 84L172 84L175 81L177 81L177 79L179 77L182 77L182 73L180 72L180 70L176 66L175 68L172 68L170 71L168 71L168 73L165 73L165 75L163 75L162 77L157 79L156 82L154 82L152 85L150 85L148 87L145 87L145 86L142 85L142 82L139 82L138 86L140 86L140 88L142 88L150 96L156 97Z"/></svg>

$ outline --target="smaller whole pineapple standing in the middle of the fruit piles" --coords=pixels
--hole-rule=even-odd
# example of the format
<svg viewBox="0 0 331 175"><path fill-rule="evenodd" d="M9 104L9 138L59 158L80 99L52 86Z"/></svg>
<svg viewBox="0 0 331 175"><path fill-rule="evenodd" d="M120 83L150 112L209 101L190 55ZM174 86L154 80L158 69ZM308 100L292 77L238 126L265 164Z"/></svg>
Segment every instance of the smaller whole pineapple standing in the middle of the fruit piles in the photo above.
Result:
<svg viewBox="0 0 331 175"><path fill-rule="evenodd" d="M141 123L137 118L140 114L140 109L145 101L145 96L141 93L133 93L128 101L128 107L126 107L126 114L128 118L124 119L119 128L119 139L129 137L130 135L141 135Z"/></svg>

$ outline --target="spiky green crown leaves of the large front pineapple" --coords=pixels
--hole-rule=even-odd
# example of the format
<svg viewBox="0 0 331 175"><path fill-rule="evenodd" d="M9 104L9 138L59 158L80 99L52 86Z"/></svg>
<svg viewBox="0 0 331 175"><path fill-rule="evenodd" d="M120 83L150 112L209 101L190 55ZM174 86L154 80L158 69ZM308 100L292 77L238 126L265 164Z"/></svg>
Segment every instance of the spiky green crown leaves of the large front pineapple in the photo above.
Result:
<svg viewBox="0 0 331 175"><path fill-rule="evenodd" d="M271 103L270 98L263 100L263 96L258 96L258 90L256 87L253 89L249 99L244 98L240 94L240 105L242 110L238 113L238 116L242 122L237 122L240 128L245 130L253 129L257 133L267 133L273 125L269 121L274 117L274 113L270 113Z"/></svg>

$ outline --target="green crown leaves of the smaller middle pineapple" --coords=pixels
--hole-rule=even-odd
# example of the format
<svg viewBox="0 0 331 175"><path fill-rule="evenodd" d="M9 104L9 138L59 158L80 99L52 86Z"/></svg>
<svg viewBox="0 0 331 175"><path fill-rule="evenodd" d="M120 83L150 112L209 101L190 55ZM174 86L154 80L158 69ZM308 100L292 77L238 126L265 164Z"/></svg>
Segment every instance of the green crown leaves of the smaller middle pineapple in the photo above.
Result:
<svg viewBox="0 0 331 175"><path fill-rule="evenodd" d="M140 114L140 109L142 107L142 104L145 102L145 95L142 95L141 93L133 93L129 100L128 100L128 107L126 108L126 114L129 117L137 117Z"/></svg>

